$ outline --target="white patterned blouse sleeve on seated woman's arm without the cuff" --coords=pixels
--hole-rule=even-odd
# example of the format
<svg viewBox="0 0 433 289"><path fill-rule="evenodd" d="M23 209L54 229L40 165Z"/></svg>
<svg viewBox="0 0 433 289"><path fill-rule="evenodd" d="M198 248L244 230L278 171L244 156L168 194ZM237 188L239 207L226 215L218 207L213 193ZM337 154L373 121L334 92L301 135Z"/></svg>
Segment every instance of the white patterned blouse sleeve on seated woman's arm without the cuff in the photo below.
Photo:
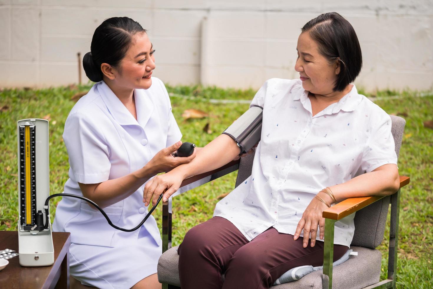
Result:
<svg viewBox="0 0 433 289"><path fill-rule="evenodd" d="M391 134L391 117L381 111L371 120L369 130L371 130L371 134L364 147L362 170L371 172L388 163L397 164L394 138Z"/></svg>

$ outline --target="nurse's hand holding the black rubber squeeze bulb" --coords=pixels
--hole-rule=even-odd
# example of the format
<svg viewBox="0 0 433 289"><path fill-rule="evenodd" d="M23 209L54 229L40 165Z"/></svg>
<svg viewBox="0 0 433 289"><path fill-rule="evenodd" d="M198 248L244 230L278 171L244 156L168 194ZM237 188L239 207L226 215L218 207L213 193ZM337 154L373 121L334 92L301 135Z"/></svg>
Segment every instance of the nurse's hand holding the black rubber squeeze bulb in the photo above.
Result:
<svg viewBox="0 0 433 289"><path fill-rule="evenodd" d="M146 164L149 169L153 172L153 175L159 174L160 172L168 172L171 169L184 164L191 162L195 156L196 151L194 149L194 153L191 156L181 157L172 156L172 153L178 150L181 147L182 142L179 140L172 146L169 146L165 149L161 149L156 155Z"/></svg>

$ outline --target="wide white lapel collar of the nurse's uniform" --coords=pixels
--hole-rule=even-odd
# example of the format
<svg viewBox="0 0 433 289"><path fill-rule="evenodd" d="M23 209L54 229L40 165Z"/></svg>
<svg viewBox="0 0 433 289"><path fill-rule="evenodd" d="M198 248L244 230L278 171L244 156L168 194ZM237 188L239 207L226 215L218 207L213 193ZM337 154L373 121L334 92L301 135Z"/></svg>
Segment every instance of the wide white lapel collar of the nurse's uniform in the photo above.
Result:
<svg viewBox="0 0 433 289"><path fill-rule="evenodd" d="M104 81L97 84L97 89L107 106L110 114L120 125L141 125L143 128L148 122L152 111L153 104L149 96L142 89L134 90L134 99L136 103L137 120L132 116L125 105L113 93Z"/></svg>

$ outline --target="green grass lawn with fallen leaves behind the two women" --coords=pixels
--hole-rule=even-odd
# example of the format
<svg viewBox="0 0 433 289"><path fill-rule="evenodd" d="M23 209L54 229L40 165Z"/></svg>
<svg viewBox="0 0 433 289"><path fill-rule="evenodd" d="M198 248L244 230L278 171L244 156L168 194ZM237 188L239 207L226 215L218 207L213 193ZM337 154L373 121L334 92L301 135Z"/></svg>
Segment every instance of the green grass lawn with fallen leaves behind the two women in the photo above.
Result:
<svg viewBox="0 0 433 289"><path fill-rule="evenodd" d="M84 85L0 91L0 230L16 230L18 218L16 121L30 117L43 118L49 114L50 190L51 194L62 192L69 169L68 155L61 137L63 127L74 105L71 97L88 89L89 86ZM204 146L213 140L248 107L248 104L209 104L203 99L252 99L255 93L252 90L201 86L168 86L168 91L193 97L189 100L172 97L171 101L174 116L184 135L183 140L194 142L197 146ZM392 95L401 95L403 98L386 99ZM430 258L433 247L433 130L425 128L423 122L433 120L433 95L415 97L415 93L410 91L380 91L375 96L384 97L376 103L385 111L401 115L407 121L398 165L400 174L410 176L411 181L403 188L401 195L397 287L430 288L433 282ZM181 114L188 108L204 110L209 117L184 120ZM212 133L204 132L207 123ZM236 173L232 173L174 199L173 245L180 244L191 227L212 217L218 196L230 192L235 179ZM58 198L51 201L52 217L58 201ZM160 211L155 211L159 224ZM378 247L383 256L381 279L386 279L388 236L387 229L385 240Z"/></svg>

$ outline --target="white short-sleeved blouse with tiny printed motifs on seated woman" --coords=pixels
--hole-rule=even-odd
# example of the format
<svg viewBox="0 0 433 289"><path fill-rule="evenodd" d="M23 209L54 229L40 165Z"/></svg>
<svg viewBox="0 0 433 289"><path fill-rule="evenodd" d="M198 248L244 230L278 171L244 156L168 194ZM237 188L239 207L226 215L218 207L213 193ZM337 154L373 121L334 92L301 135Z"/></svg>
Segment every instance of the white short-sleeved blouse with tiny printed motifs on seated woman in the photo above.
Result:
<svg viewBox="0 0 433 289"><path fill-rule="evenodd" d="M321 189L397 164L391 118L355 85L315 116L307 96L300 80L272 78L252 100L263 107L252 174L218 202L213 214L232 222L248 240L269 227L293 235ZM335 223L334 244L350 247L354 217Z"/></svg>

